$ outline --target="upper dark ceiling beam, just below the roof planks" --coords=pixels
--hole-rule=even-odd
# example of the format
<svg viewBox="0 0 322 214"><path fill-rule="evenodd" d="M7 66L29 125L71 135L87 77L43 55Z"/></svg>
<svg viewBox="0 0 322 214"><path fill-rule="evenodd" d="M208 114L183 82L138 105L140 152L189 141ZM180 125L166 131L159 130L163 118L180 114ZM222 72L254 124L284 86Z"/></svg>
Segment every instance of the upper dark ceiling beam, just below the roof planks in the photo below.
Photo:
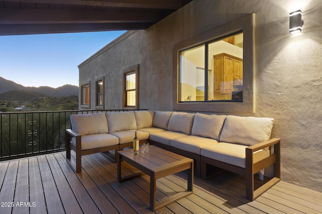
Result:
<svg viewBox="0 0 322 214"><path fill-rule="evenodd" d="M157 21L159 21L159 14L152 12L0 9L0 24L155 23Z"/></svg>

